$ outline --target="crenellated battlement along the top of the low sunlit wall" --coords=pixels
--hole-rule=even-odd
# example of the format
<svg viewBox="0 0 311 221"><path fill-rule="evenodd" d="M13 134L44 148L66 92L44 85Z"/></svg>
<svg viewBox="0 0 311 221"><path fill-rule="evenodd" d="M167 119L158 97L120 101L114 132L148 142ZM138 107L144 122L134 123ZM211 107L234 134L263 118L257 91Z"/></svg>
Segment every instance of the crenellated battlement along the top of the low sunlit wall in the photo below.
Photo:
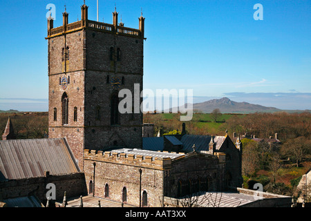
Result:
<svg viewBox="0 0 311 221"><path fill-rule="evenodd" d="M131 166L143 166L153 169L169 169L171 168L172 158L132 153L118 153L117 151L95 151L84 149L84 160L128 164Z"/></svg>

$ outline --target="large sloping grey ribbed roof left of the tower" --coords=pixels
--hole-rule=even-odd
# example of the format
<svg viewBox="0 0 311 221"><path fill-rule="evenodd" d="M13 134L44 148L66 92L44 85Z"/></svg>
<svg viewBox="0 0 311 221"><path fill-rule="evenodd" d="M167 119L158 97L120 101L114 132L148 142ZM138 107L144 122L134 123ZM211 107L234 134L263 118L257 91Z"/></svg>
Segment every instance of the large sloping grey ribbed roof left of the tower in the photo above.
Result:
<svg viewBox="0 0 311 221"><path fill-rule="evenodd" d="M76 173L73 154L64 138L0 141L0 181Z"/></svg>

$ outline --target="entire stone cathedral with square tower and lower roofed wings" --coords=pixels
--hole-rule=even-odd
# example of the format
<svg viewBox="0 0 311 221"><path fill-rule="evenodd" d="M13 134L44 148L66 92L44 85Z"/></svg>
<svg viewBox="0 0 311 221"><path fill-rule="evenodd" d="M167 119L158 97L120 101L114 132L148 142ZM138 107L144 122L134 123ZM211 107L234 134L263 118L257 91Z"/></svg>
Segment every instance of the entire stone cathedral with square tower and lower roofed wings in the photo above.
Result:
<svg viewBox="0 0 311 221"><path fill-rule="evenodd" d="M21 191L19 177L3 175L11 181L0 180L0 198L32 192L44 200L44 187L55 182L58 199L66 191L133 206L163 206L164 197L241 186L241 148L229 137L191 137L185 124L180 137L148 137L151 124L143 135L142 111L135 108L142 102L144 17L139 17L139 29L133 29L117 22L116 10L113 24L89 20L85 3L81 12L80 21L68 23L65 10L63 26L57 28L48 18L49 138L1 141L0 154L11 164L3 162L0 171L30 177L21 177L26 179ZM118 108L121 89L133 95L127 113ZM143 138L159 138L159 146L146 150ZM30 150L39 158L27 154ZM12 164L16 160L21 164ZM58 171L63 164L67 170Z"/></svg>

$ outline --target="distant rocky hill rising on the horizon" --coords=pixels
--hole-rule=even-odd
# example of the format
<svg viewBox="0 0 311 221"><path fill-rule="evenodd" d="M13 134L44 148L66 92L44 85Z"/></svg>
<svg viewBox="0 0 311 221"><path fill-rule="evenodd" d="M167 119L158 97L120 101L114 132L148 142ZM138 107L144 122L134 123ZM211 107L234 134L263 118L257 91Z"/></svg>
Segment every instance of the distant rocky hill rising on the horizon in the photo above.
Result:
<svg viewBox="0 0 311 221"><path fill-rule="evenodd" d="M221 113L273 113L277 111L283 111L278 108L261 106L258 104L249 104L247 102L234 102L227 97L223 97L221 99L211 99L207 102L193 104L194 111L200 111L202 113L211 113L216 108L218 108Z"/></svg>

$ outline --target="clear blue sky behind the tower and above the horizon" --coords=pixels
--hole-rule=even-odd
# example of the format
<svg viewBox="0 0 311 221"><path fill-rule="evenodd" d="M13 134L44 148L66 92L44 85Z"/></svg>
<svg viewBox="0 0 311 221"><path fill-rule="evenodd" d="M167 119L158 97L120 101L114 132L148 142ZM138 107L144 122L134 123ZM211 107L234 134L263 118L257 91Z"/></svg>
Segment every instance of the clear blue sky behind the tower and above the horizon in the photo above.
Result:
<svg viewBox="0 0 311 221"><path fill-rule="evenodd" d="M81 19L83 1L0 1L0 110L47 111L46 6L55 27ZM193 89L283 109L311 109L311 1L99 0L100 21L116 5L126 27L145 19L144 88ZM263 20L254 20L261 3ZM96 0L86 0L96 20ZM120 21L120 19L119 19ZM194 99L195 101L196 99ZM21 106L21 103L23 106Z"/></svg>

